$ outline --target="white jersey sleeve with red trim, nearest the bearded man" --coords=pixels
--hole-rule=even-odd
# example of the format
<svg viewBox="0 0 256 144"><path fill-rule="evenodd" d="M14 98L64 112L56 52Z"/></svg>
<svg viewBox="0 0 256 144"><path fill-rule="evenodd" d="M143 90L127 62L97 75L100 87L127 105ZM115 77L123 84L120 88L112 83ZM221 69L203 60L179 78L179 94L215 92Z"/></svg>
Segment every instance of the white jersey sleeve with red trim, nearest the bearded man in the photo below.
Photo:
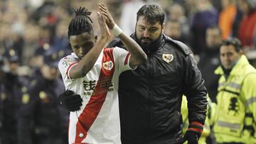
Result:
<svg viewBox="0 0 256 144"><path fill-rule="evenodd" d="M119 47L114 47L113 53L115 62L117 63L118 71L120 73L126 70L135 70L137 68L129 66L129 59L131 55L127 50Z"/></svg>

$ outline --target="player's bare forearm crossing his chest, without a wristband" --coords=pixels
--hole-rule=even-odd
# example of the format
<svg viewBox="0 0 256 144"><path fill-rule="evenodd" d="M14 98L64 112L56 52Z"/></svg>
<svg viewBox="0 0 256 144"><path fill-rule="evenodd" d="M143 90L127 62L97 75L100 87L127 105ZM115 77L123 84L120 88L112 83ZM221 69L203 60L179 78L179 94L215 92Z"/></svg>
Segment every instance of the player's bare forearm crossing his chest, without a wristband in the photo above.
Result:
<svg viewBox="0 0 256 144"><path fill-rule="evenodd" d="M87 54L82 57L82 59L78 62L78 65L75 65L70 70L70 77L73 79L85 77L85 75L92 70L92 67L95 65L95 62L97 61L97 58L100 55L100 52L102 51L102 48L104 48L105 44L107 43L107 40L109 37L102 36L100 40L95 43L95 45L92 47L92 49L87 52Z"/></svg>

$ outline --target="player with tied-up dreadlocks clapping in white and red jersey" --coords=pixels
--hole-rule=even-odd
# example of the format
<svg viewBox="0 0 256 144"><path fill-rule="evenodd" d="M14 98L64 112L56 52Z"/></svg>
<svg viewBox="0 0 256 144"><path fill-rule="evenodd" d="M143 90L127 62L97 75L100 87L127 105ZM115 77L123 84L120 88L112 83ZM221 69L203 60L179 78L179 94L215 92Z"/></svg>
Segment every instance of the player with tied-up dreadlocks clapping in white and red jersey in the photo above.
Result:
<svg viewBox="0 0 256 144"><path fill-rule="evenodd" d="M90 11L75 10L68 38L73 53L59 62L66 91L59 96L60 104L69 106L69 143L121 143L118 105L119 74L135 69L146 60L142 48L114 23L104 4L99 4L98 22L102 35L94 35ZM104 48L110 39L110 29L127 50ZM73 92L72 92L73 91ZM79 95L80 96L79 96ZM72 104L82 101L80 109Z"/></svg>

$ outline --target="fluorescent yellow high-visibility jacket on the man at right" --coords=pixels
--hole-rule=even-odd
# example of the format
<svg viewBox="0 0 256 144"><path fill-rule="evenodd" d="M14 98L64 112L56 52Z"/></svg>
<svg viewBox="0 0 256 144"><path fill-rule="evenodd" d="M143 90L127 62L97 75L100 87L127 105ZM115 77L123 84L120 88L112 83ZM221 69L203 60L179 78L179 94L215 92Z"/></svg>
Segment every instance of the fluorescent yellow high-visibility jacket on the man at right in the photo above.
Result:
<svg viewBox="0 0 256 144"><path fill-rule="evenodd" d="M253 90L256 89L256 82L251 83L254 88L245 87L250 85L245 84L245 79L256 79L255 68L249 64L245 55L242 55L228 79L225 79L221 67L218 67L215 73L221 74L213 126L217 143L256 143L253 118L256 109L251 109L256 105L256 90Z"/></svg>

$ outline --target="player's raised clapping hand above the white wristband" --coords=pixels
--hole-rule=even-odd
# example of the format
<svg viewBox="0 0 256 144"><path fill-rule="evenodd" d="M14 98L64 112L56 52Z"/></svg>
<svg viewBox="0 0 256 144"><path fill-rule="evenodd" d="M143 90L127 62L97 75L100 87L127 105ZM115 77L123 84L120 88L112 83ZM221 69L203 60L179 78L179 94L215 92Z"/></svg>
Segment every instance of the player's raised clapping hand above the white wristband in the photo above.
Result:
<svg viewBox="0 0 256 144"><path fill-rule="evenodd" d="M107 9L107 6L105 6L105 4L103 4L103 3L99 3L98 5L99 5L99 9L100 9L101 13L104 16L106 16L107 26L110 29L114 28L114 19L112 18L110 11Z"/></svg>

